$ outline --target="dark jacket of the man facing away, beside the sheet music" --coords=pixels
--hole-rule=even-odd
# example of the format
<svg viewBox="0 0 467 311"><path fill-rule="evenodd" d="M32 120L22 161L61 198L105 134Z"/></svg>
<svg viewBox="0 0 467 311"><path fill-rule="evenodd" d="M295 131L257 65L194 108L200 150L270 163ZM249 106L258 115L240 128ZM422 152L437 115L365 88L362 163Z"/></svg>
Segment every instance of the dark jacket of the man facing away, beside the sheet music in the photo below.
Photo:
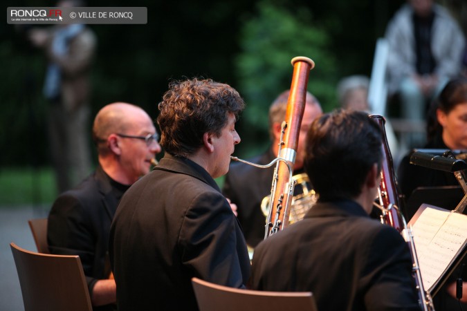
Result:
<svg viewBox="0 0 467 311"><path fill-rule="evenodd" d="M250 285L311 291L318 310L420 310L408 245L353 201L318 202L259 243Z"/></svg>

